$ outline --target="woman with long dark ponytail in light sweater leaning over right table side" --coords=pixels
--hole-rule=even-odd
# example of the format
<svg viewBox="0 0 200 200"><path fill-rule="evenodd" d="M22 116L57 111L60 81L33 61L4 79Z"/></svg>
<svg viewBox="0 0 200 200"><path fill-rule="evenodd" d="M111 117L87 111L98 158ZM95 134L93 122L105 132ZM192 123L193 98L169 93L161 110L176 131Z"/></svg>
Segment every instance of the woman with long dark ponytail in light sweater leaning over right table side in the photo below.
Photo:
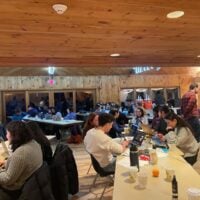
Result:
<svg viewBox="0 0 200 200"><path fill-rule="evenodd" d="M174 129L174 131L168 132L164 138L168 143L175 143L176 146L184 153L185 160L193 165L197 159L197 153L199 150L199 144L196 141L191 128L182 118L176 115L173 111L170 111L165 120L168 127Z"/></svg>

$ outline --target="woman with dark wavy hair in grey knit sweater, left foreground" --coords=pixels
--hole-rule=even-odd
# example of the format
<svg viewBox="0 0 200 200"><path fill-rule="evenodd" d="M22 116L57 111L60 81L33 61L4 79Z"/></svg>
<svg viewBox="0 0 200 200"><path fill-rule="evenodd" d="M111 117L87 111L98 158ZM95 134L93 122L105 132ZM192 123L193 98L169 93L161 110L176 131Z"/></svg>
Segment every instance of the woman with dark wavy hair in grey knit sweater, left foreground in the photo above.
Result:
<svg viewBox="0 0 200 200"><path fill-rule="evenodd" d="M12 155L5 162L5 168L0 169L0 199L14 200L25 181L42 166L42 150L25 123L12 121L6 130Z"/></svg>

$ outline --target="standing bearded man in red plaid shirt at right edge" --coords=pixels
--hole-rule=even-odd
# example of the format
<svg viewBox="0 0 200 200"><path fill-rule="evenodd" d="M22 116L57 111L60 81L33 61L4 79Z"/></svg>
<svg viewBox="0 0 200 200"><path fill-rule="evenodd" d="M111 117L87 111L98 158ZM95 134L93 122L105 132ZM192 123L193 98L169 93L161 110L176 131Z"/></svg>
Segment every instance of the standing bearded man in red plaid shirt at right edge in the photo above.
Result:
<svg viewBox="0 0 200 200"><path fill-rule="evenodd" d="M184 119L191 126L196 140L200 141L200 121L199 112L197 108L198 84L192 83L189 87L189 91L186 92L181 99L181 111Z"/></svg>

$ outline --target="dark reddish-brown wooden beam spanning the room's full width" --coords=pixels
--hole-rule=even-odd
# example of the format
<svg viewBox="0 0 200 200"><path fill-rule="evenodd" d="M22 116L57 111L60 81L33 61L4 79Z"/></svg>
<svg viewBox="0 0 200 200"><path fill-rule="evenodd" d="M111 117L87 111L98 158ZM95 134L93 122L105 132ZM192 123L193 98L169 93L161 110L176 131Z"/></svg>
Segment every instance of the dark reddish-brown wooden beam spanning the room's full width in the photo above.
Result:
<svg viewBox="0 0 200 200"><path fill-rule="evenodd" d="M144 58L15 58L15 57L0 57L0 67L48 67L49 65L55 65L57 67L133 67L133 66L159 66L159 67L175 67L175 66L200 66L199 59L196 60L185 60L184 58L179 59L157 59L150 60Z"/></svg>

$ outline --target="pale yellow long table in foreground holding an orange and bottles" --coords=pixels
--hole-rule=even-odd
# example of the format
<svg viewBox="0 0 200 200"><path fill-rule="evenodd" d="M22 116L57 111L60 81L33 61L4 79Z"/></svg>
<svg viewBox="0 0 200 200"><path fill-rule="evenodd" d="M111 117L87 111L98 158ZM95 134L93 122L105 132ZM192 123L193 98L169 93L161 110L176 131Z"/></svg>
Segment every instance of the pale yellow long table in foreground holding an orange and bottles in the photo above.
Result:
<svg viewBox="0 0 200 200"><path fill-rule="evenodd" d="M141 167L141 170L145 169L148 174L148 183L146 189L137 189L137 181L132 182L129 178L129 169L126 166L121 165L121 159L129 159L124 156L120 156L116 164L115 181L113 200L171 200L172 199L172 185L171 182L165 180L166 168L172 168L175 170L176 179L178 182L178 199L187 199L187 189L189 187L200 188L200 175L189 165L181 156L180 151L176 151L173 147L169 151L168 156L158 158L158 167L160 171L159 177L152 177L153 165L147 165Z"/></svg>

